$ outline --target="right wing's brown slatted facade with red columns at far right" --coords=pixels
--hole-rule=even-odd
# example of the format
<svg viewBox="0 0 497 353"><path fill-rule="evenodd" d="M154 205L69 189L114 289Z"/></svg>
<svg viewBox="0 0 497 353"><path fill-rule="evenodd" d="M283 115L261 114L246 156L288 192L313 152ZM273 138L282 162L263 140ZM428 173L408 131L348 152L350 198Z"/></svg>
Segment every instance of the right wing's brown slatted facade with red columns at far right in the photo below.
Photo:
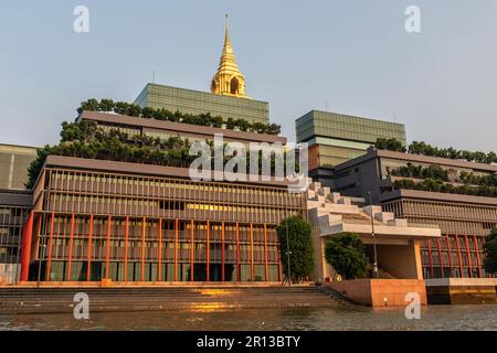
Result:
<svg viewBox="0 0 497 353"><path fill-rule="evenodd" d="M422 243L424 278L487 277L483 244L485 236L497 227L497 197L402 188L402 181L409 180L414 185L426 179L403 176L399 170L406 167L422 171L421 174L427 170L442 171L446 181L441 189L447 189L448 184L465 185L461 180L464 174L497 173L497 165L371 148L368 154L337 165L332 184L335 190L351 196L366 197L370 191L372 203L381 204L395 217L406 218L413 225L432 224L441 228L442 238Z"/></svg>

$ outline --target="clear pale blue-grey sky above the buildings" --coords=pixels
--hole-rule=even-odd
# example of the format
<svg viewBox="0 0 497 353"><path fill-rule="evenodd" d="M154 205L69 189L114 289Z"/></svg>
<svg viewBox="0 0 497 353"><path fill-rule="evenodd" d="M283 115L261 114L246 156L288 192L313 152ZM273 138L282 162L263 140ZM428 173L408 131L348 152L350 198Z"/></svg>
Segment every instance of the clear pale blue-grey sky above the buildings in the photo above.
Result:
<svg viewBox="0 0 497 353"><path fill-rule="evenodd" d="M73 10L89 9L89 33ZM404 30L421 9L419 34ZM497 150L495 0L46 0L0 2L0 142L54 143L87 98L156 83L209 90L230 13L247 94L295 137L325 109L396 120L408 138Z"/></svg>

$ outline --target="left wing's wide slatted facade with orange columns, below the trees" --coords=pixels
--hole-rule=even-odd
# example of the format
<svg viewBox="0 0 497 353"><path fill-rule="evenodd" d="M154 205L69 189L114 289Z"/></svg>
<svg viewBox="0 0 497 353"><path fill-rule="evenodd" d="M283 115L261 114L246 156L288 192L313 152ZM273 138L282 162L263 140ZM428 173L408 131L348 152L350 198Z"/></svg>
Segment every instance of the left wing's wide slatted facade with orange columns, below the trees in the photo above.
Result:
<svg viewBox="0 0 497 353"><path fill-rule="evenodd" d="M277 281L285 185L193 182L181 168L49 157L24 280ZM31 234L31 235L30 235Z"/></svg>

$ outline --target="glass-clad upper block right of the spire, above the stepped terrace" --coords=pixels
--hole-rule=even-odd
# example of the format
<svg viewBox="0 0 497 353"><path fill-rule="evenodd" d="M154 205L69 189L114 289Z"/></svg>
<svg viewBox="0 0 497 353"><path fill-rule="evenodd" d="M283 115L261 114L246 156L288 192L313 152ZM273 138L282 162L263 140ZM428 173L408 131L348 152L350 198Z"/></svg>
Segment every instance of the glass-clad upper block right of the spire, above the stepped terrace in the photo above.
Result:
<svg viewBox="0 0 497 353"><path fill-rule="evenodd" d="M396 139L403 145L402 124L311 110L296 120L297 142L309 146L309 175L329 185L331 169L366 154L379 138Z"/></svg>

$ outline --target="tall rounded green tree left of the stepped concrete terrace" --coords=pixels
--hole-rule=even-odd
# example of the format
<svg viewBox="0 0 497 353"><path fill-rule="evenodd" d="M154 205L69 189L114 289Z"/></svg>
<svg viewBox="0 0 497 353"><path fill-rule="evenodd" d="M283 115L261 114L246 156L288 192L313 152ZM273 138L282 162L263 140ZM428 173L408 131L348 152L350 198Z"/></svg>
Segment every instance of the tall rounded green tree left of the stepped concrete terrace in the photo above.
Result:
<svg viewBox="0 0 497 353"><path fill-rule="evenodd" d="M310 224L302 217L289 217L279 224L277 234L282 249L283 271L286 277L288 277L287 248L289 248L290 252L292 279L302 281L304 277L309 276L313 271L314 247L311 232Z"/></svg>

